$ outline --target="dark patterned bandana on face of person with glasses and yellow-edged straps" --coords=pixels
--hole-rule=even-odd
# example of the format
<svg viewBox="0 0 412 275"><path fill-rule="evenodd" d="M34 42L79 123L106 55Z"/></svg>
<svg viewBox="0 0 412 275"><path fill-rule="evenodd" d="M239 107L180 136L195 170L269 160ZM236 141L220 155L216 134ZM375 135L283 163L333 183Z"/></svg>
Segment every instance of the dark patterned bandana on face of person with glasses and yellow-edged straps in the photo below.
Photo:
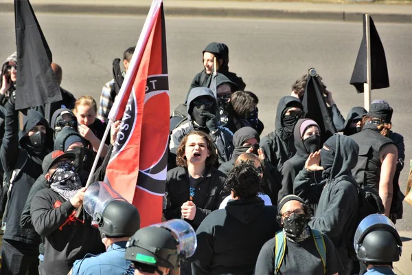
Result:
<svg viewBox="0 0 412 275"><path fill-rule="evenodd" d="M308 223L304 214L292 214L284 219L283 230L286 237L294 242L305 241L310 237Z"/></svg>

